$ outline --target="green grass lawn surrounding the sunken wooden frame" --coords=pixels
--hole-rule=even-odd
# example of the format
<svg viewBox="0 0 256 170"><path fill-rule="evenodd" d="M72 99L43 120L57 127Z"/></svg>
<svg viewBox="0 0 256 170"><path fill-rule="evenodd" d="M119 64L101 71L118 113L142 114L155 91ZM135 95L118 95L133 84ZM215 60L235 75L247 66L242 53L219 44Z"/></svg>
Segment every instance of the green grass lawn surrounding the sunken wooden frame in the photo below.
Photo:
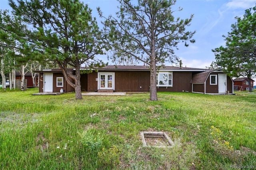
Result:
<svg viewBox="0 0 256 170"><path fill-rule="evenodd" d="M33 96L0 90L0 168L226 170L256 168L256 95L158 93ZM140 131L172 148L142 147Z"/></svg>

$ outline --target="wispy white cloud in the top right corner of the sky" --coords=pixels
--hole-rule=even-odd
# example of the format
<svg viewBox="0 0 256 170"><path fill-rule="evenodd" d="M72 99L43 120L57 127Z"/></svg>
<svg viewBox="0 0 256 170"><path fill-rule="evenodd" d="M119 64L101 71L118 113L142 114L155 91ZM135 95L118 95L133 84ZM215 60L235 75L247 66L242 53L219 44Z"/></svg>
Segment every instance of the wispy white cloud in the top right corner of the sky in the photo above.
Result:
<svg viewBox="0 0 256 170"><path fill-rule="evenodd" d="M256 0L232 0L226 4L226 7L232 9L248 9L255 6Z"/></svg>

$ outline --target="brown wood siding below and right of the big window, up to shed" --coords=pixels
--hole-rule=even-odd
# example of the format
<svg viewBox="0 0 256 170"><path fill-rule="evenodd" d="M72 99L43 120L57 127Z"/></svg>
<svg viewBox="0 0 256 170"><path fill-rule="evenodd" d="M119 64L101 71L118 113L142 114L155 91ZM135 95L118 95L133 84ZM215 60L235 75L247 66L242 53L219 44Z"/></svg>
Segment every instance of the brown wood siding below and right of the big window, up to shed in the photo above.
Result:
<svg viewBox="0 0 256 170"><path fill-rule="evenodd" d="M158 87L157 91L192 91L192 84L190 84L192 72L173 71L172 78L172 87L167 87L167 89L166 87Z"/></svg>

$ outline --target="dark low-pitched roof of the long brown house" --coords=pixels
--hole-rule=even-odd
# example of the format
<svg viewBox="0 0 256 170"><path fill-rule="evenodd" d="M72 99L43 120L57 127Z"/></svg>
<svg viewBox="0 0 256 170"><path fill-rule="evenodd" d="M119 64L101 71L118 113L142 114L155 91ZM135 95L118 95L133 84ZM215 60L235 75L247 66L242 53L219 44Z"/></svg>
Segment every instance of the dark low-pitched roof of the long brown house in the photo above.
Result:
<svg viewBox="0 0 256 170"><path fill-rule="evenodd" d="M86 69L88 67L81 67L81 69ZM105 67L96 68L98 70L149 70L149 66L144 65L107 65ZM208 69L190 68L190 67L176 67L176 66L164 66L160 67L160 70L195 70L195 71L205 71Z"/></svg>

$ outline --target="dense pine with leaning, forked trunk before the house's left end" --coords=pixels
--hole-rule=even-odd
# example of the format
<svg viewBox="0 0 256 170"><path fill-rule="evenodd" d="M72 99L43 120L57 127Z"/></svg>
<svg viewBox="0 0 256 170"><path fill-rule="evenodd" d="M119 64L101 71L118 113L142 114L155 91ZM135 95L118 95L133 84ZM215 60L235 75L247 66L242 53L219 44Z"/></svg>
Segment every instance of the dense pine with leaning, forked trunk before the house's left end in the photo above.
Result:
<svg viewBox="0 0 256 170"><path fill-rule="evenodd" d="M9 4L16 18L26 25L24 32L6 27L19 36L26 50L21 53L30 51L29 57L56 62L75 89L76 99L82 99L80 65L103 64L95 58L103 54L103 45L92 10L79 0L9 0ZM8 23L15 26L10 20ZM70 66L76 69L75 75L68 71Z"/></svg>

